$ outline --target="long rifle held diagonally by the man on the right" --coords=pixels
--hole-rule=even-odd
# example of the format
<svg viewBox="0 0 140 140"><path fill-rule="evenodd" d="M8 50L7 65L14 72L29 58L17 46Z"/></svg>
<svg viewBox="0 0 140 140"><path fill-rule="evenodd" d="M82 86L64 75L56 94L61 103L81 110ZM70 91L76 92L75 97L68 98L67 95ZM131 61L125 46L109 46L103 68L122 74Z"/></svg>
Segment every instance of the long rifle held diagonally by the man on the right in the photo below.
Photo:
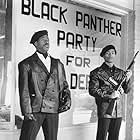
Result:
<svg viewBox="0 0 140 140"><path fill-rule="evenodd" d="M136 58L136 56L137 56L138 53L139 53L139 51L137 51L136 54L134 55L134 57L133 57L133 59L132 59L130 65L128 66L128 68L126 69L126 71L125 71L125 73L124 73L124 75L123 75L123 77L122 77L121 82L117 85L117 87L116 87L116 89L115 89L116 91L118 91L118 90L121 88L123 82L126 80L126 73L127 73L127 70L131 69L132 65L133 65L134 62L135 62L135 58ZM112 116L112 113L113 113L113 111L114 111L114 109L115 109L115 106L116 106L116 99L112 99L112 100L110 101L110 103L109 103L109 106L108 106L108 108L107 108L106 114Z"/></svg>

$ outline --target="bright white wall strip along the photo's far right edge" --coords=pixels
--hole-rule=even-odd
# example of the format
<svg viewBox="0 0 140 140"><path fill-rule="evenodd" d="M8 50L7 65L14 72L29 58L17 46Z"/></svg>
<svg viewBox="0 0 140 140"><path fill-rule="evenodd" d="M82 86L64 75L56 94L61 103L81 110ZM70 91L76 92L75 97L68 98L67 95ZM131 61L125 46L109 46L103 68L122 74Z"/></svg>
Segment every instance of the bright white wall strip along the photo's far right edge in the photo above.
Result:
<svg viewBox="0 0 140 140"><path fill-rule="evenodd" d="M135 51L138 50L140 51L140 1L135 0ZM135 62L134 72L133 140L140 140L140 53Z"/></svg>

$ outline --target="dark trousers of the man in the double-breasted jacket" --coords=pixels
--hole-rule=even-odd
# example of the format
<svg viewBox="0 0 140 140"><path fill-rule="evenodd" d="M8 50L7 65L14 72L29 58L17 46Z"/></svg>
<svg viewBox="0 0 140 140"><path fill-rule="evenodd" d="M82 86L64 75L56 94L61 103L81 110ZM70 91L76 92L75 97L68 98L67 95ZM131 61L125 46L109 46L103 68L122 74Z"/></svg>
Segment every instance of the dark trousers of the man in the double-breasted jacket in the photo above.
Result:
<svg viewBox="0 0 140 140"><path fill-rule="evenodd" d="M34 113L36 121L24 120L20 140L35 140L42 126L45 140L57 140L58 114Z"/></svg>

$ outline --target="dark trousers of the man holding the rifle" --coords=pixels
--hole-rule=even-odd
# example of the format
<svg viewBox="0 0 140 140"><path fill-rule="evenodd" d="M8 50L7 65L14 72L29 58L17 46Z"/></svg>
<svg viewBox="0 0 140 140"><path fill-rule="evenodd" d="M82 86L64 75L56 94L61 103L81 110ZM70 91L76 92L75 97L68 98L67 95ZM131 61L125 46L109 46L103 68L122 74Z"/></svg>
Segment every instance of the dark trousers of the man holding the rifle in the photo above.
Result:
<svg viewBox="0 0 140 140"><path fill-rule="evenodd" d="M96 140L118 140L122 118L99 118Z"/></svg>

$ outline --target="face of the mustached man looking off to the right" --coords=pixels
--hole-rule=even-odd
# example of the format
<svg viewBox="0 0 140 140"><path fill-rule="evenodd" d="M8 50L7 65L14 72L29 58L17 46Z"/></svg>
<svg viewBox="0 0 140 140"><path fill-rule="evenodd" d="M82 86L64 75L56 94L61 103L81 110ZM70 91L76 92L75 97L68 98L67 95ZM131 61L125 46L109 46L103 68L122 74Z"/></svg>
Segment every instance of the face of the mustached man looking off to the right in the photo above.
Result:
<svg viewBox="0 0 140 140"><path fill-rule="evenodd" d="M48 35L41 36L38 41L35 42L36 49L41 53L46 53L49 50L49 38Z"/></svg>

